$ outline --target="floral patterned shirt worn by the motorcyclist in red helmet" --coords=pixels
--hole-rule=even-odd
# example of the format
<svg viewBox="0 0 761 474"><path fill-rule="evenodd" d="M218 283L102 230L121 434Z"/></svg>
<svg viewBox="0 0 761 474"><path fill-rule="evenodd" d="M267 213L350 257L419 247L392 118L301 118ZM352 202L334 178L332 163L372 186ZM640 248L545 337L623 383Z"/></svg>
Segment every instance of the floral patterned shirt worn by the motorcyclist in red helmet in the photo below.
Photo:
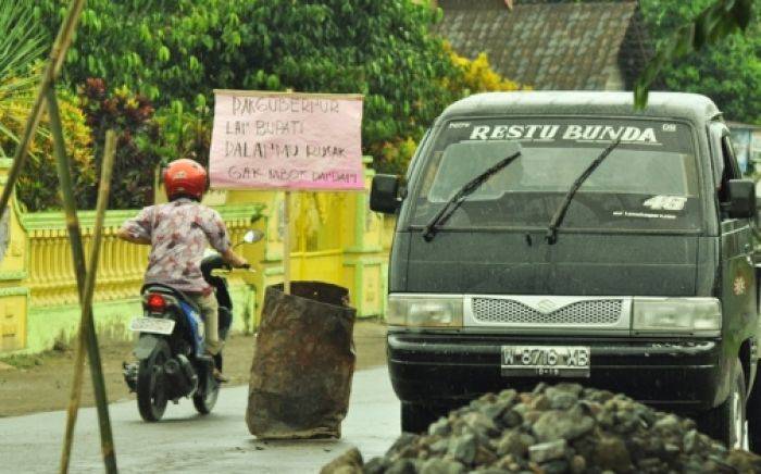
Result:
<svg viewBox="0 0 761 474"><path fill-rule="evenodd" d="M200 267L207 245L220 253L230 247L220 213L186 198L144 208L122 229L151 240L146 284L160 283L187 292L210 290Z"/></svg>

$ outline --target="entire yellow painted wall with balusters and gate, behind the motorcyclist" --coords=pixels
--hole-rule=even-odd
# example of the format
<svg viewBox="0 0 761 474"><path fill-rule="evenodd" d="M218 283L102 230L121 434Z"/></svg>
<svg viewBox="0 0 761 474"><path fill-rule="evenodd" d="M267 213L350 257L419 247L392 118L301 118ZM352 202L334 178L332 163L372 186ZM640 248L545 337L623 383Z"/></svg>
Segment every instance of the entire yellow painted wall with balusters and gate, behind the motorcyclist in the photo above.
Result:
<svg viewBox="0 0 761 474"><path fill-rule="evenodd" d="M0 160L0 190L9 166L10 160ZM365 179L369 188L369 169ZM162 200L161 194L157 200ZM264 288L283 280L284 194L213 191L204 203L220 211L234 242L241 241L249 228L265 233L263 241L238 248L255 273L229 280L236 327L250 329L259 321ZM93 313L97 330L109 338L128 338L127 322L140 310L137 297L149 248L115 237L124 220L136 213L109 211L105 216ZM394 222L370 212L366 192L294 194L290 215L291 278L345 286L359 316L382 316ZM64 216L20 213L14 201L7 219L5 226L0 223L0 237L5 228L10 234L0 261L0 353L50 349L57 340L72 339L78 327ZM95 214L80 212L79 220L89 254Z"/></svg>

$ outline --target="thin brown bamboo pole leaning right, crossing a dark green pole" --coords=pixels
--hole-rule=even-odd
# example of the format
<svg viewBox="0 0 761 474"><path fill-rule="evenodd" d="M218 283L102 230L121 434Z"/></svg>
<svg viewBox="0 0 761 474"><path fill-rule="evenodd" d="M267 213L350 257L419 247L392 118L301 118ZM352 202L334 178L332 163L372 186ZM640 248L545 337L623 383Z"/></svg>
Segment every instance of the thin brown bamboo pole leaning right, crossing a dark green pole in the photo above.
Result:
<svg viewBox="0 0 761 474"><path fill-rule="evenodd" d="M113 170L114 155L116 153L116 134L113 130L105 133L105 147L103 149L103 161L101 164L100 187L98 188L98 203L96 205L96 221L92 230L92 247L90 248L90 260L85 277L85 295L82 303L82 320L79 322L79 337L77 338L76 359L74 361L74 377L72 381L72 394L68 400L68 412L66 417L66 433L64 436L63 452L61 453L61 474L68 472L68 461L74 441L74 426L76 425L77 411L82 400L82 381L85 372L86 347L86 325L87 315L85 310L91 310L92 294L95 291L96 272L98 271L98 259L100 258L100 242L103 237L103 220L105 208L111 194L111 172Z"/></svg>

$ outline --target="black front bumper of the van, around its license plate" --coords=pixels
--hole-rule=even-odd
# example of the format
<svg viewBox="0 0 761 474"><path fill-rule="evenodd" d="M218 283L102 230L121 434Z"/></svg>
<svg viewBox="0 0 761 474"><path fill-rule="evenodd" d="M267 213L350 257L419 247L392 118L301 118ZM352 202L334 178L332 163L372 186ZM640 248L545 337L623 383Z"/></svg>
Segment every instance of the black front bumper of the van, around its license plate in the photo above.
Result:
<svg viewBox="0 0 761 474"><path fill-rule="evenodd" d="M623 392L659 409L695 412L728 394L721 340L527 337L389 332L394 390L406 402L453 406L504 388L532 390L539 382L573 382ZM588 346L588 378L501 375L504 345Z"/></svg>

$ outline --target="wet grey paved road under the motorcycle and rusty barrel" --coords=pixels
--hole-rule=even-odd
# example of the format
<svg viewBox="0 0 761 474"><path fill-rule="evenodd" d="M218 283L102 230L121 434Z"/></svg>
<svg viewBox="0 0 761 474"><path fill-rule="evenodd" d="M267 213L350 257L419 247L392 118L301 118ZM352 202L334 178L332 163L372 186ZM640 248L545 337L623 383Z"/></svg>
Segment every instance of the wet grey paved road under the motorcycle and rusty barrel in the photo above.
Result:
<svg viewBox="0 0 761 474"><path fill-rule="evenodd" d="M123 473L315 473L351 446L379 456L399 434L399 402L385 367L354 374L344 438L338 441L258 441L244 421L247 387L225 388L211 415L184 400L164 421L140 421L134 401L111 404L116 460ZM67 394L61 392L61 397ZM0 419L0 472L58 471L64 412ZM103 472L95 409L80 410L72 473Z"/></svg>

